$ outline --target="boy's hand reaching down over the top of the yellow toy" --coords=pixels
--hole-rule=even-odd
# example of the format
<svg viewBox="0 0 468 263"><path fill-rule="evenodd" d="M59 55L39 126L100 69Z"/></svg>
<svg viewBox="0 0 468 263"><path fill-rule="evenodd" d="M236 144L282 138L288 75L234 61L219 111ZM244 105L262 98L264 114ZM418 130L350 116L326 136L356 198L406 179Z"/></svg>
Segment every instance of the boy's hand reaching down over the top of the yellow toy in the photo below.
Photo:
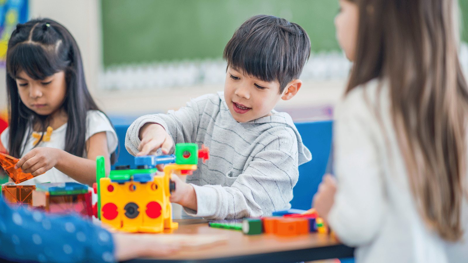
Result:
<svg viewBox="0 0 468 263"><path fill-rule="evenodd" d="M161 148L162 153L168 154L174 141L166 130L156 123L147 123L139 131L141 143L138 146L137 156L156 155L156 150Z"/></svg>

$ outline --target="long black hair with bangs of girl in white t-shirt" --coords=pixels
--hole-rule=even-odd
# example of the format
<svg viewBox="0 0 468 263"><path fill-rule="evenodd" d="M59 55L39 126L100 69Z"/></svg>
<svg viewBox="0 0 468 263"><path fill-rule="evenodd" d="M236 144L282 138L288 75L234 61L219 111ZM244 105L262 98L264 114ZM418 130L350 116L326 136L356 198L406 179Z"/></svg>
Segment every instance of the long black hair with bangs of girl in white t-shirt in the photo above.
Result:
<svg viewBox="0 0 468 263"><path fill-rule="evenodd" d="M70 32L51 19L36 19L16 25L7 48L7 95L9 118L8 151L20 158L30 138L27 127L39 122L42 131L49 125L48 116L30 110L21 101L15 78L24 71L35 80L43 80L59 71L65 72L66 95L63 107L68 115L65 151L82 157L85 151L88 110L99 110L89 94L80 50ZM26 136L26 142L23 139ZM42 139L42 138L41 138ZM40 140L41 140L40 139ZM24 142L24 143L23 143ZM111 163L116 161L111 154Z"/></svg>

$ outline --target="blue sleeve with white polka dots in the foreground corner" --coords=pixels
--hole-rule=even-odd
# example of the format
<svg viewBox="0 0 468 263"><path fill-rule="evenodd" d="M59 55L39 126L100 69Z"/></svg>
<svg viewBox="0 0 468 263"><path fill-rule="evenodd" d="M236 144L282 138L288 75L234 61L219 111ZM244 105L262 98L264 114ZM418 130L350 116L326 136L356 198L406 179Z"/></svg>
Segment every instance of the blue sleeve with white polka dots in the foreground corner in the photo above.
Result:
<svg viewBox="0 0 468 263"><path fill-rule="evenodd" d="M0 258L22 262L115 262L105 229L75 216L10 207L0 198Z"/></svg>

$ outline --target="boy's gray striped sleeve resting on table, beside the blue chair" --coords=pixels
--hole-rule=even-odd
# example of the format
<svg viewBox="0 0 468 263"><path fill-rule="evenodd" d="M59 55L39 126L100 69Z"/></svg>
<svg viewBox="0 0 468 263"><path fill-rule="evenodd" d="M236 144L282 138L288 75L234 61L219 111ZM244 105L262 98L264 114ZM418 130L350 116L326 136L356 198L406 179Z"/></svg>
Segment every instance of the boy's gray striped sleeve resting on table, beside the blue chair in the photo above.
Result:
<svg viewBox="0 0 468 263"><path fill-rule="evenodd" d="M192 184L197 211L184 208L185 212L206 219L241 219L290 208L292 188L299 178L297 138L289 127L275 129L278 132L270 131L270 142L260 142L263 150L230 187Z"/></svg>

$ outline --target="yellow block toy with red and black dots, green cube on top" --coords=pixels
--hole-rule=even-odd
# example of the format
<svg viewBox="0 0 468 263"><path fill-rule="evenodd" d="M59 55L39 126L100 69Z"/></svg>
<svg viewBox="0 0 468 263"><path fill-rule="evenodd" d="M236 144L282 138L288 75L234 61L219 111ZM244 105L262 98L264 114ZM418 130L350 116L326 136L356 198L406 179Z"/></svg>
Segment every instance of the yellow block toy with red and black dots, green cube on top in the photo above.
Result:
<svg viewBox="0 0 468 263"><path fill-rule="evenodd" d="M95 216L115 229L124 232L161 233L176 229L172 221L169 202L175 183L172 174L191 175L197 169L198 158L209 159L209 150L195 143L176 144L171 155L146 155L135 157L136 169L130 165L117 166L105 177L104 158L99 156L96 165L97 182L93 185L98 195L94 206ZM158 173L159 164L166 164L164 173Z"/></svg>

